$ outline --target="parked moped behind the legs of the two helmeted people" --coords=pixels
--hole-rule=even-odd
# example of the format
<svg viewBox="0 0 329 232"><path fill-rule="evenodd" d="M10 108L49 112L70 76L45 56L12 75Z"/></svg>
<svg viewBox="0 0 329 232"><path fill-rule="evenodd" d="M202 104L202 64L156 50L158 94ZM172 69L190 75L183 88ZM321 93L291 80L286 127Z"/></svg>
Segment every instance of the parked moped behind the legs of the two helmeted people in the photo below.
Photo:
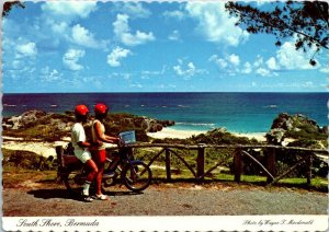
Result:
<svg viewBox="0 0 329 232"><path fill-rule="evenodd" d="M57 158L59 160L58 176L68 190L80 194L88 170L75 155L65 154L64 151L60 151L60 148L56 148L56 151L57 155L60 156ZM128 147L122 147L118 152L106 152L102 177L102 189L104 192L107 192L109 187L116 183L125 185L135 193L143 192L150 185L151 170L143 161L135 160L131 151Z"/></svg>

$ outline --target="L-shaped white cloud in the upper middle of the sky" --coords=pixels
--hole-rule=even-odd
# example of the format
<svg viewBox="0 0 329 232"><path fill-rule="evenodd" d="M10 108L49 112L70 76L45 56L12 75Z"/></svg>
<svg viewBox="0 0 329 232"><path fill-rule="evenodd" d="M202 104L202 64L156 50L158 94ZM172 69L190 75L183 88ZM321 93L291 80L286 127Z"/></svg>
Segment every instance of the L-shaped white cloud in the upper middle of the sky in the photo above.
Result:
<svg viewBox="0 0 329 232"><path fill-rule="evenodd" d="M155 40L155 36L151 32L144 33L137 30L135 34L132 34L128 19L129 16L127 14L117 14L116 21L113 23L114 34L121 43L127 46L136 46Z"/></svg>

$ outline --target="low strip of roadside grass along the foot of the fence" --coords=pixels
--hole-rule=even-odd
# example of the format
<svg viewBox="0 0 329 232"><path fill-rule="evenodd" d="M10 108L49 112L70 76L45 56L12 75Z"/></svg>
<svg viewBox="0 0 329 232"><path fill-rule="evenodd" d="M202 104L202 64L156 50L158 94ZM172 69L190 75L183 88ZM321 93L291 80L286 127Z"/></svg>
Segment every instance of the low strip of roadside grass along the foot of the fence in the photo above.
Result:
<svg viewBox="0 0 329 232"><path fill-rule="evenodd" d="M164 169L159 169L158 166L152 167L154 183L167 182L167 173ZM24 183L31 181L32 183L39 184L55 184L63 185L56 182L57 171L36 171L27 169L18 169L14 166L4 166L3 169L3 187L4 188L16 188L24 186ZM235 176L232 174L217 173L205 176L202 183L225 183L235 184ZM197 183L190 170L172 170L171 181L172 183ZM197 183L201 184L201 183ZM239 185L252 186L265 186L266 177L258 175L241 175L241 181ZM64 185L63 185L64 186ZM283 178L277 182L274 186L277 187L288 187L297 189L308 189L316 192L327 193L328 190L328 179L321 177L311 178L311 184L308 186L306 178Z"/></svg>

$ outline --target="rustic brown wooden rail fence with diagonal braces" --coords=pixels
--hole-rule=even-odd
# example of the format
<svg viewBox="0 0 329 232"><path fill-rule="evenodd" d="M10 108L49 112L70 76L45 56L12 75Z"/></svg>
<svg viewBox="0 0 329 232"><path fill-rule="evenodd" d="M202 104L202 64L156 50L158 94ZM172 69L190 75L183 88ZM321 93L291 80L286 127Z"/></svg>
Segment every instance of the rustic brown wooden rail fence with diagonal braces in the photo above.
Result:
<svg viewBox="0 0 329 232"><path fill-rule="evenodd" d="M160 151L157 154L152 155L152 158L148 161L147 165L150 166L160 155L164 155L164 165L166 165L166 175L167 181L171 181L171 155L175 155L195 177L196 182L204 181L204 177L209 175L218 166L223 165L223 162L218 161L212 167L205 170L205 150L206 149L231 149L234 152L231 153L234 158L234 175L235 182L240 182L242 175L242 156L248 158L253 164L258 165L260 170L262 170L266 175L268 185L273 185L279 182L281 178L288 175L291 172L296 170L302 164L306 165L305 176L307 178L307 184L310 184L311 181L311 166L313 159L315 155L324 155L325 159L328 159L328 151L322 149L307 149L307 148L295 148L295 147L281 147L281 146L265 146L265 144L223 144L223 146L214 146L214 144L169 144L169 143L136 143L129 144L128 148L131 152L135 149L146 149L146 148L159 148ZM109 150L113 150L115 148L109 148ZM262 164L259 160L257 160L248 150L259 149L265 150L265 164ZM196 160L193 165L189 164L185 160L185 156L181 153L177 152L177 150L194 150L197 151ZM294 153L300 152L303 153L302 158L299 158L294 165L286 169L285 171L277 173L276 172L276 152L285 151L288 155L294 155ZM300 156L300 155L299 155Z"/></svg>

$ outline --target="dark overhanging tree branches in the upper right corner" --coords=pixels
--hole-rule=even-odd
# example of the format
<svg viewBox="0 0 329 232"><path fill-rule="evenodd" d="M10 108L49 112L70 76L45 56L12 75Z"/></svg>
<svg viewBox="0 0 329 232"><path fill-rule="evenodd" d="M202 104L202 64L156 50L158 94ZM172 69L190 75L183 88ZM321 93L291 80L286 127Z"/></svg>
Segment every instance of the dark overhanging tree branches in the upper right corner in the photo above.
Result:
<svg viewBox="0 0 329 232"><path fill-rule="evenodd" d="M315 55L321 49L329 49L328 3L325 1L286 1L272 2L272 11L261 11L242 2L227 2L230 15L238 18L236 25L246 25L252 34L266 33L276 37L276 46L282 39L296 36L296 50L304 53L316 47L309 60L316 66Z"/></svg>

